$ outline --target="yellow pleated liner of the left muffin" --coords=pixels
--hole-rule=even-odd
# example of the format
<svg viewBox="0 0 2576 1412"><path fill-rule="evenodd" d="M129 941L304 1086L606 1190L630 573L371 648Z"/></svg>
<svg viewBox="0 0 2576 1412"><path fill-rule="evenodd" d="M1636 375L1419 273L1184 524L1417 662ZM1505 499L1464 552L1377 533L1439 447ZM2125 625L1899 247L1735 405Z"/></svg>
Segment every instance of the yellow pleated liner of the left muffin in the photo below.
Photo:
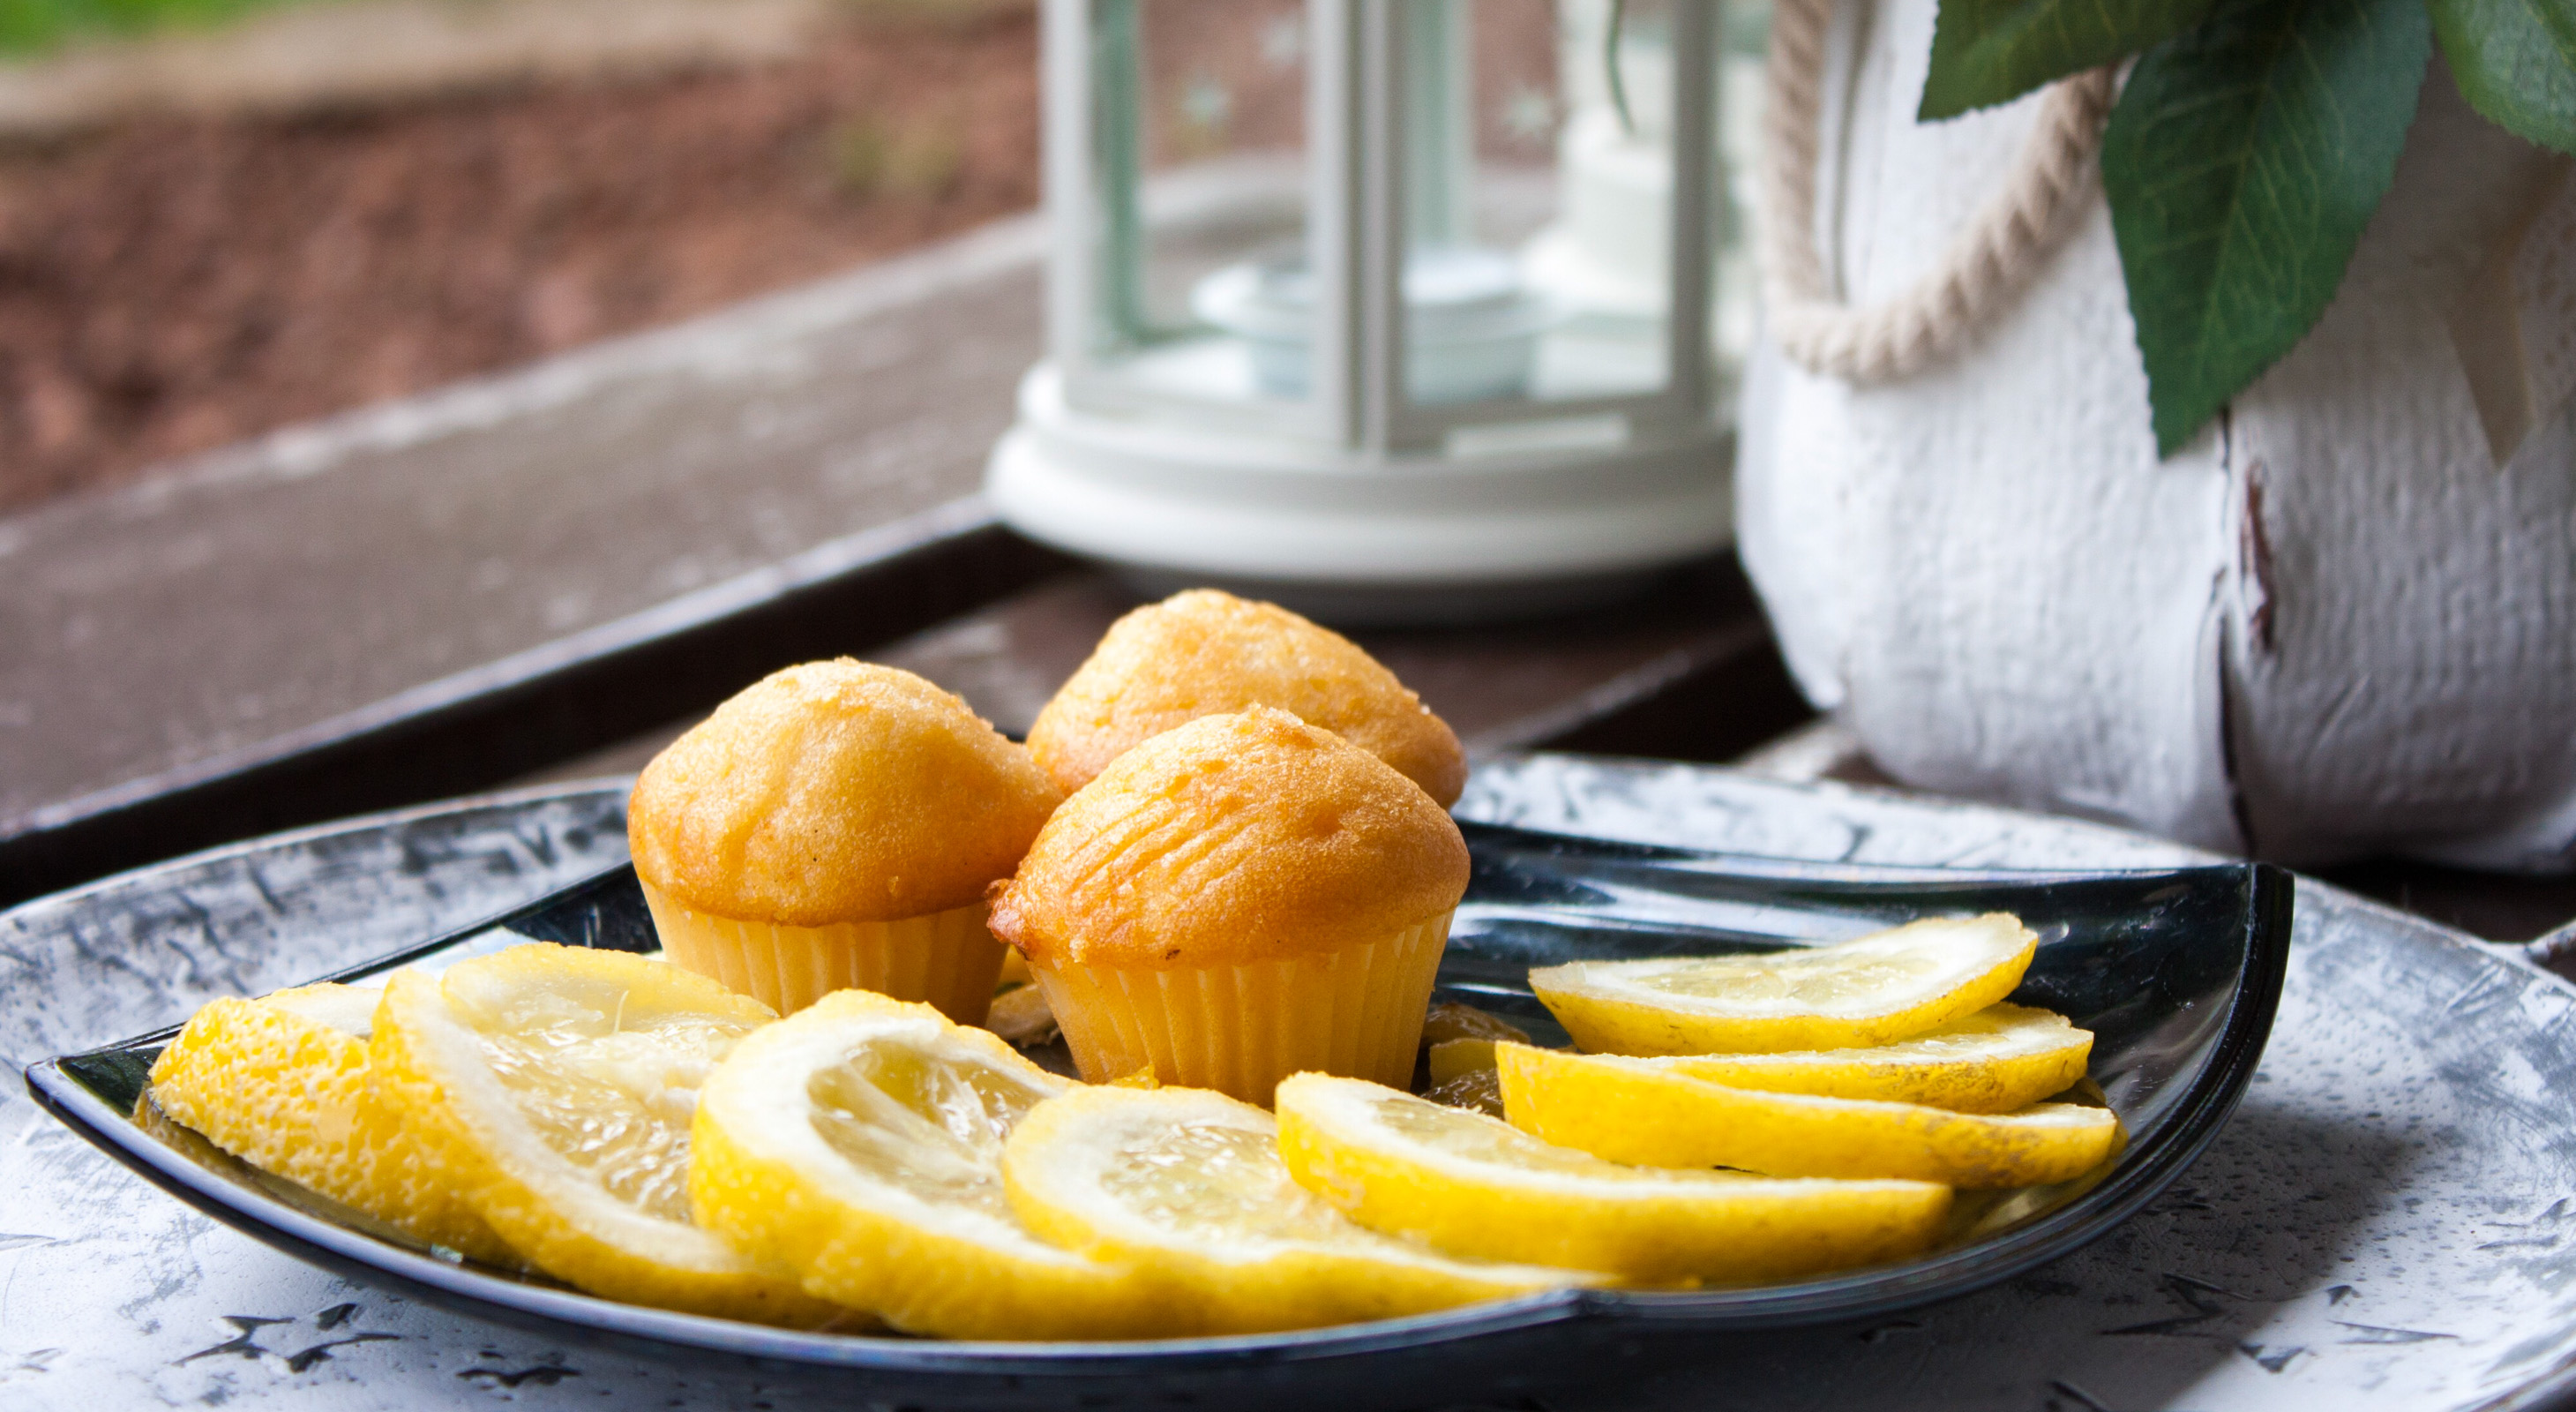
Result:
<svg viewBox="0 0 2576 1412"><path fill-rule="evenodd" d="M961 1026L981 1026L992 1005L1002 951L984 928L989 904L969 902L894 922L788 928L737 922L672 902L644 884L644 904L670 959L714 977L781 1015L793 1015L835 989L873 989L927 1000Z"/></svg>

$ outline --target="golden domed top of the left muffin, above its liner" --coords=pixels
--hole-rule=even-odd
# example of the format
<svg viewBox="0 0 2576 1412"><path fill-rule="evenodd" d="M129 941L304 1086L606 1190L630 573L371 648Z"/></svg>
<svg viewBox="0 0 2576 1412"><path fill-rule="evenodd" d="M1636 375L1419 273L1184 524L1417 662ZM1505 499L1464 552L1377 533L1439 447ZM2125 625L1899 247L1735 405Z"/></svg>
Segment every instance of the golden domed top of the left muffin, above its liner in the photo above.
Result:
<svg viewBox="0 0 2576 1412"><path fill-rule="evenodd" d="M956 696L842 657L760 678L654 755L626 840L698 912L886 922L984 897L1059 799Z"/></svg>

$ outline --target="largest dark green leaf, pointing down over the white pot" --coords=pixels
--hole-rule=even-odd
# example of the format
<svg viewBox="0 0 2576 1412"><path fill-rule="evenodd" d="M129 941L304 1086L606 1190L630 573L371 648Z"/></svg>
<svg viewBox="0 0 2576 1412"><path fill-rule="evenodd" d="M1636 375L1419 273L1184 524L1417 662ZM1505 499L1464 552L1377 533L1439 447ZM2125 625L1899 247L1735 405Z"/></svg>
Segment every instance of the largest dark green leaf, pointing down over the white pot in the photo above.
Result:
<svg viewBox="0 0 2576 1412"><path fill-rule="evenodd" d="M2221 0L2130 72L2102 188L2161 453L2326 312L2429 59L2421 0Z"/></svg>

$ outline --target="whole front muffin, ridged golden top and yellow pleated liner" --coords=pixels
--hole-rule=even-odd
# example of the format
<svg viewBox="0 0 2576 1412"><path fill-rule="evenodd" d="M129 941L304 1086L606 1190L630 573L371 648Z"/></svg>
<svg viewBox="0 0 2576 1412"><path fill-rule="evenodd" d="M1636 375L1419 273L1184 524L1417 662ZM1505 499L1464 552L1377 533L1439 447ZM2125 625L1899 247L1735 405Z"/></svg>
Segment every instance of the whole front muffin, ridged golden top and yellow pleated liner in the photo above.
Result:
<svg viewBox="0 0 2576 1412"><path fill-rule="evenodd" d="M1321 1069L1406 1087L1466 840L1376 755L1285 711L1200 716L1056 809L992 910L1082 1077L1270 1103Z"/></svg>

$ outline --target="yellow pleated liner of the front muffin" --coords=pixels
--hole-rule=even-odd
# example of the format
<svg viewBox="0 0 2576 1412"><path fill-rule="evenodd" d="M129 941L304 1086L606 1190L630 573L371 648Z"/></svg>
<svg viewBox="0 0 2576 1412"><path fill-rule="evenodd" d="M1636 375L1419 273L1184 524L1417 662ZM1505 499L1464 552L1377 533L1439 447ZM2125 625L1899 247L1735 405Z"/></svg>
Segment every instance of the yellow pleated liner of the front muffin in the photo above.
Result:
<svg viewBox="0 0 2576 1412"><path fill-rule="evenodd" d="M1409 1087L1450 912L1319 956L1172 971L1030 961L1090 1082L1154 1069L1270 1108L1319 1069Z"/></svg>

